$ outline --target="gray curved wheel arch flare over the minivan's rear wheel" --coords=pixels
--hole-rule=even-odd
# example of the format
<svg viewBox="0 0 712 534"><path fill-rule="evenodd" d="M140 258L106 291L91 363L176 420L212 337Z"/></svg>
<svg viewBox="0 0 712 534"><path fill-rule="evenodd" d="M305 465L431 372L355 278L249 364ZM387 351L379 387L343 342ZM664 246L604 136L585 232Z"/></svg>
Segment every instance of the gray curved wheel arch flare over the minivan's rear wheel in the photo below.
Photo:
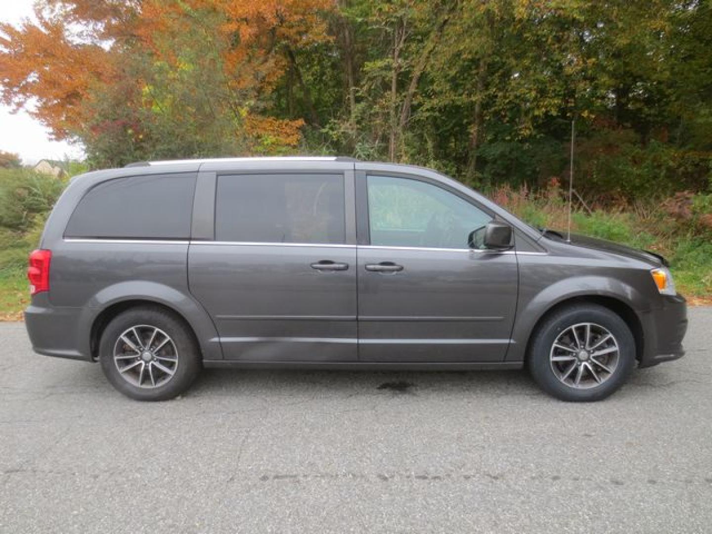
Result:
<svg viewBox="0 0 712 534"><path fill-rule="evenodd" d="M130 300L141 300L149 303L162 304L186 320L193 328L205 360L222 360L222 350L219 343L210 342L219 337L214 323L204 308L190 295L165 286L162 283L150 281L120 282L107 286L93 295L83 308L78 321L84 332L90 332L98 316L112 305ZM82 340L80 352L91 353L90 336L78 336Z"/></svg>

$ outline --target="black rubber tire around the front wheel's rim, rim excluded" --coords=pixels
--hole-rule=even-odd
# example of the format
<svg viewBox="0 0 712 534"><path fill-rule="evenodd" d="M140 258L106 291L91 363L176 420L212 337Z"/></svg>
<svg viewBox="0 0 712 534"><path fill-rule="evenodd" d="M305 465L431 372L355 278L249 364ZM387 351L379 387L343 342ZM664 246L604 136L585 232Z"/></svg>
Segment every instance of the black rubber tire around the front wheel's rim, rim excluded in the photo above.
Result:
<svg viewBox="0 0 712 534"><path fill-rule="evenodd" d="M575 389L560 382L550 364L550 350L557 337L578 323L595 323L609 330L619 347L618 367L600 386ZM555 313L535 333L529 355L529 368L534 379L549 394L565 401L591 402L605 399L621 387L635 365L635 340L628 325L616 313L597 305L580 305Z"/></svg>

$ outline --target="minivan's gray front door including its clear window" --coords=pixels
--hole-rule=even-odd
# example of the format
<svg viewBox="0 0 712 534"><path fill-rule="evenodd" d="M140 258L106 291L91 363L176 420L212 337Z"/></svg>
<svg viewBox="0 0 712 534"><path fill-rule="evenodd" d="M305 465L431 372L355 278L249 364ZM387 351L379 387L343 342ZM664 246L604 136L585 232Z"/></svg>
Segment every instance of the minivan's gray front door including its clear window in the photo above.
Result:
<svg viewBox="0 0 712 534"><path fill-rule="evenodd" d="M361 175L357 188L359 229L369 238L358 247L360 360L502 361L516 255L468 246L471 231L493 216L419 177Z"/></svg>

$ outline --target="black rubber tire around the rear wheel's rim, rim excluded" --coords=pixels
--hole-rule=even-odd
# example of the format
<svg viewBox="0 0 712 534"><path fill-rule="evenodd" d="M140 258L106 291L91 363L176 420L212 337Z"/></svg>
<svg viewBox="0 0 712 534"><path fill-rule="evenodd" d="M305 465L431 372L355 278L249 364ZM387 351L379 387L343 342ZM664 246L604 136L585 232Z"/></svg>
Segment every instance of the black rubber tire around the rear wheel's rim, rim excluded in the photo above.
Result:
<svg viewBox="0 0 712 534"><path fill-rule="evenodd" d="M127 382L114 362L114 346L118 337L128 328L150 325L163 330L174 342L178 352L175 375L162 386L140 388ZM99 345L99 361L108 381L118 391L135 400L161 401L172 399L184 392L200 370L199 351L192 335L176 318L162 310L135 308L117 315L102 333Z"/></svg>

